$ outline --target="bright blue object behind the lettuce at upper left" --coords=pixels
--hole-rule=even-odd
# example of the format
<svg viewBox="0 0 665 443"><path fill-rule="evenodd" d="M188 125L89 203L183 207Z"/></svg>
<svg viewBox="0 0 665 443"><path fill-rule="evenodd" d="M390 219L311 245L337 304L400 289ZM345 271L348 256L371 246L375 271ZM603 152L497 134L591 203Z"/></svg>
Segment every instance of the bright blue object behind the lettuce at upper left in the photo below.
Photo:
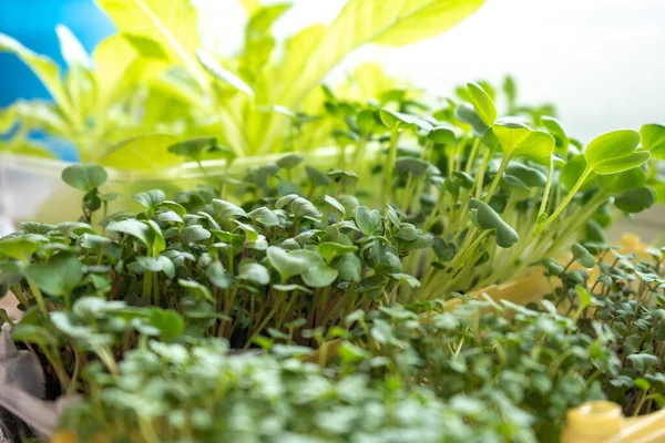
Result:
<svg viewBox="0 0 665 443"><path fill-rule="evenodd" d="M64 66L55 25L64 24L90 52L114 32L111 20L93 0L0 0L0 32L11 35L37 53L49 55ZM50 99L32 71L14 55L0 52L0 107L18 99ZM76 159L76 152L62 142L44 141L60 158Z"/></svg>

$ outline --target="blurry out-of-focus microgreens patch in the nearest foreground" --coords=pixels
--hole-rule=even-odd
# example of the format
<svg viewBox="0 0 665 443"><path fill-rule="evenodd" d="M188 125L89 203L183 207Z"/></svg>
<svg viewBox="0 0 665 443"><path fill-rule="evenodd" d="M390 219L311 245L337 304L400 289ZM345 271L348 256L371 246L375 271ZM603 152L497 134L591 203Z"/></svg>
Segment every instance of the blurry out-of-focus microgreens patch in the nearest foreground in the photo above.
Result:
<svg viewBox="0 0 665 443"><path fill-rule="evenodd" d="M303 363L307 350L276 344L272 354L231 356L222 341L191 349L153 341L126 354L120 382L91 367L94 394L63 425L79 441L432 443L499 441L502 426L513 425L497 411L475 418L470 399L442 402L399 379Z"/></svg>

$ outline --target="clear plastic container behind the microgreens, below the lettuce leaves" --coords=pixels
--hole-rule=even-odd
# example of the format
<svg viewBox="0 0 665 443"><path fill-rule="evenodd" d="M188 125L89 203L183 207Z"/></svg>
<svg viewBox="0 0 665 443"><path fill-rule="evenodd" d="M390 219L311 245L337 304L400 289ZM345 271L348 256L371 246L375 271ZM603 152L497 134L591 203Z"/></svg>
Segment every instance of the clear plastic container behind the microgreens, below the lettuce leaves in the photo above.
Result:
<svg viewBox="0 0 665 443"><path fill-rule="evenodd" d="M250 168L282 158L285 153L259 157L236 158L231 165L223 159L204 161L204 169L196 163L164 169L120 169L106 167L109 178L103 193L120 195L109 205L109 214L123 209L139 209L132 200L136 193L160 188L167 196L178 190L194 189L197 185L219 178L242 176ZM324 147L304 154L308 165L330 167L339 159L337 147ZM83 193L66 186L60 178L72 163L59 159L0 153L0 236L8 234L10 224L39 220L60 223L81 216ZM6 231L2 233L2 229Z"/></svg>

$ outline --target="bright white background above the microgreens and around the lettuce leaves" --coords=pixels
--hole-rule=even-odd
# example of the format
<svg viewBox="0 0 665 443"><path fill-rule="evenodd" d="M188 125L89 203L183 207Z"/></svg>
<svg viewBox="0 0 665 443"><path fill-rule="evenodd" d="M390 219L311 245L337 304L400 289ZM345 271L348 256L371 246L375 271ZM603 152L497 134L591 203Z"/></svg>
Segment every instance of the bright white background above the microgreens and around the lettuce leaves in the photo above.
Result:
<svg viewBox="0 0 665 443"><path fill-rule="evenodd" d="M195 0L206 40L242 43L237 1ZM331 21L344 0L294 0L278 37ZM521 100L553 102L582 141L643 123L665 124L665 0L488 0L458 28L399 49L367 48L341 66L380 61L419 87L449 94L471 80L513 74Z"/></svg>

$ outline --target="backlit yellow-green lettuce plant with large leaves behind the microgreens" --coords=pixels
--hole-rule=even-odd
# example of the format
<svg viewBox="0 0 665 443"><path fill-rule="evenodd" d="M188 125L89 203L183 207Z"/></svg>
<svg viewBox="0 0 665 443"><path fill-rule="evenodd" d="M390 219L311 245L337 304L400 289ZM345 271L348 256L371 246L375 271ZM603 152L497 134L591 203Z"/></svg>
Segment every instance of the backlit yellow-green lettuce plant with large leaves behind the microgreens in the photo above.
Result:
<svg viewBox="0 0 665 443"><path fill-rule="evenodd" d="M24 152L29 143L24 135L34 128L72 141L84 162L110 166L133 167L131 159L105 157L117 151L136 156L155 142L116 143L154 132L215 136L236 155L279 150L291 123L289 114L318 112L321 96L313 92L348 53L368 43L395 47L433 37L457 25L483 0L351 0L329 25L308 27L279 44L272 25L289 4L253 2L247 6L243 52L229 60L202 48L198 12L190 0L98 3L119 34L90 56L70 31L59 27L69 65L64 81L52 60L0 35L0 50L24 61L55 102L21 101L3 113L0 130L14 121L20 124L10 150ZM305 148L314 147L318 146ZM158 166L170 161L174 158L168 155L152 158Z"/></svg>

